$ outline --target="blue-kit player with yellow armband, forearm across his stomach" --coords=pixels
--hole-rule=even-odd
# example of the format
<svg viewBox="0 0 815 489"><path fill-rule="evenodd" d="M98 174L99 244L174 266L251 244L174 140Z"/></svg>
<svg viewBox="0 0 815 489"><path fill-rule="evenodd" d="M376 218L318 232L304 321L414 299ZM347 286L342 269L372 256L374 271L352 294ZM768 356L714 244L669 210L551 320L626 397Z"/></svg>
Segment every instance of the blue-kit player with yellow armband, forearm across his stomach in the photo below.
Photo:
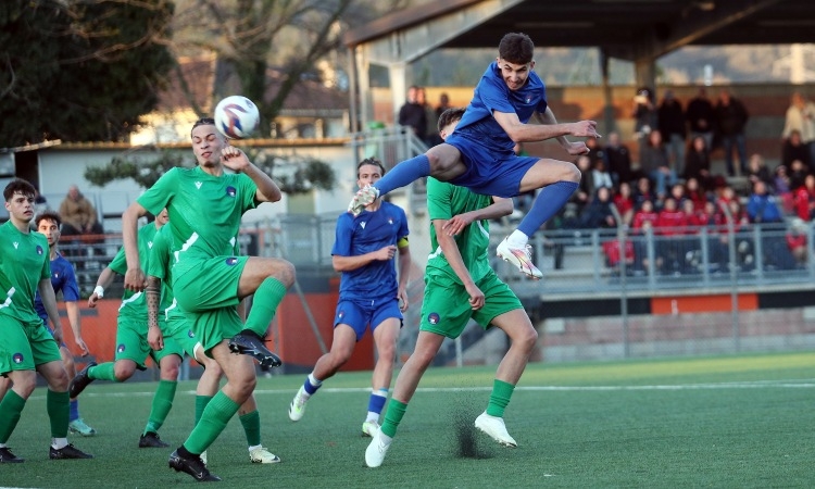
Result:
<svg viewBox="0 0 815 489"><path fill-rule="evenodd" d="M365 159L356 165L356 184L360 187L376 183L383 175L385 167L376 159ZM394 267L397 254L398 265ZM309 398L348 362L354 346L369 326L376 343L377 361L362 435L373 437L379 429L379 414L388 399L402 312L408 309L411 254L404 211L390 202L375 199L358 216L348 213L340 215L331 262L334 269L342 274L334 316L331 351L317 360L298 390L289 405L289 417L291 421L303 417Z"/></svg>

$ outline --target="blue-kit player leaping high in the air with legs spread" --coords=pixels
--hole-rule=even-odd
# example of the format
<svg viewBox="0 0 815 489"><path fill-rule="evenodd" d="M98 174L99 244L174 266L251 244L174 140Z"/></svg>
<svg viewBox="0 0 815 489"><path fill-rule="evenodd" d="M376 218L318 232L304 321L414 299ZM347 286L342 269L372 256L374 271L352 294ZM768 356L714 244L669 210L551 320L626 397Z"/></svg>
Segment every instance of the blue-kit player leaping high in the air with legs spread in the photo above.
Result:
<svg viewBox="0 0 815 489"><path fill-rule="evenodd" d="M569 154L577 155L589 149L582 141L568 141L566 136L600 135L594 121L557 123L547 104L546 86L532 72L534 50L529 36L505 35L498 47L498 59L485 72L447 141L396 165L379 181L360 189L348 211L356 215L377 197L425 176L504 198L541 189L518 228L497 250L499 256L527 276L541 278L527 242L568 201L580 181L580 172L566 161L518 156L515 143L555 138ZM542 124L527 124L534 114Z"/></svg>

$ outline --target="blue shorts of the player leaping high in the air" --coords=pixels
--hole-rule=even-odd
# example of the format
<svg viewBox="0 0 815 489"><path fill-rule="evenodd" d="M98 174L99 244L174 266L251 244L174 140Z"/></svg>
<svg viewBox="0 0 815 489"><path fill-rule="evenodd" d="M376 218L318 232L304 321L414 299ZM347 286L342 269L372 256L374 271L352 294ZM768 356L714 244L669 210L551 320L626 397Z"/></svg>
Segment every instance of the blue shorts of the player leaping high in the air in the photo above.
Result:
<svg viewBox="0 0 815 489"><path fill-rule="evenodd" d="M521 180L540 159L518 156L514 152L497 152L486 149L466 134L453 133L448 145L461 153L467 170L450 180L482 196L511 198L521 193Z"/></svg>

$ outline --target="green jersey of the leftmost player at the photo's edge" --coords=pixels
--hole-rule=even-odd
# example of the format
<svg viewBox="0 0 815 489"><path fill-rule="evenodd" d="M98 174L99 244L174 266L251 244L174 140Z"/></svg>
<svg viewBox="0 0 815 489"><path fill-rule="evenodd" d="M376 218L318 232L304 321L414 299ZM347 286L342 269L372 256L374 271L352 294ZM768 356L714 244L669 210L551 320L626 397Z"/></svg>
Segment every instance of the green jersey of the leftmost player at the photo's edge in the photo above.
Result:
<svg viewBox="0 0 815 489"><path fill-rule="evenodd" d="M0 226L0 314L41 323L34 296L43 278L51 278L48 239L39 233L21 233L7 221Z"/></svg>

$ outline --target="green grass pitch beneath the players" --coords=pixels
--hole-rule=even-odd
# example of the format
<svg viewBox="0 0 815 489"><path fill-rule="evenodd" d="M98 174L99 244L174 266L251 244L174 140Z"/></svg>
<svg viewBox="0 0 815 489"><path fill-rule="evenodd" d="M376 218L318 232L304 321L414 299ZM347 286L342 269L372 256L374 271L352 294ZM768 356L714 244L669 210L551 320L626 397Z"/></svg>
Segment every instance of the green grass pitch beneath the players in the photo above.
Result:
<svg viewBox="0 0 815 489"><path fill-rule="evenodd" d="M360 436L369 373L341 373L292 423L301 375L258 380L263 443L283 459L250 464L234 418L210 448L222 487L655 488L815 487L815 353L530 364L505 421L517 449L472 432L494 367L431 368L388 457L364 466ZM170 449L139 449L154 384L96 384L80 400L96 455L48 460L45 390L28 401L0 465L0 487L163 488L197 484L167 467L193 422L195 383L181 383L161 429ZM464 454L464 455L463 455Z"/></svg>

